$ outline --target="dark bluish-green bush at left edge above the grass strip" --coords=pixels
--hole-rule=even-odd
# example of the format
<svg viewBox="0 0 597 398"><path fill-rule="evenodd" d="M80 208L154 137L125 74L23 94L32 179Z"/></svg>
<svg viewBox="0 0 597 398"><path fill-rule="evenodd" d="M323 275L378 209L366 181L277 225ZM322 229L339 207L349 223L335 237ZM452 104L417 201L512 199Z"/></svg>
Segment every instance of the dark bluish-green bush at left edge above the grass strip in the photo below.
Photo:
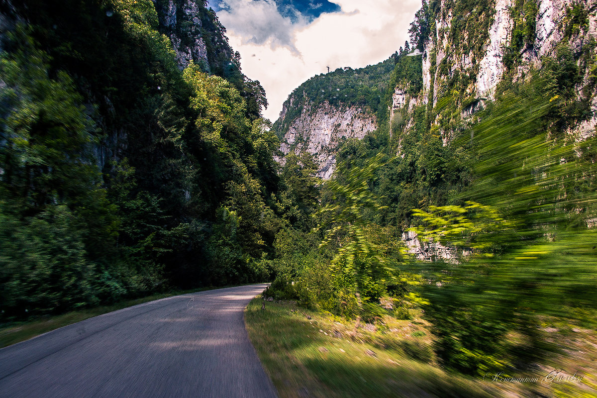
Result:
<svg viewBox="0 0 597 398"><path fill-rule="evenodd" d="M64 205L50 205L20 221L7 203L0 205L4 316L64 311L93 302L93 268L85 260L75 215Z"/></svg>

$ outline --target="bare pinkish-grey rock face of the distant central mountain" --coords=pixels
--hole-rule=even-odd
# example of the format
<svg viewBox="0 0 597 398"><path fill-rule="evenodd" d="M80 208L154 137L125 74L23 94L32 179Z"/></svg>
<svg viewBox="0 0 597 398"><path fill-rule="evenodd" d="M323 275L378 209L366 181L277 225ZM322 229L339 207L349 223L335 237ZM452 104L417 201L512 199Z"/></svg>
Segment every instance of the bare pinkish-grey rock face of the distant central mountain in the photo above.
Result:
<svg viewBox="0 0 597 398"><path fill-rule="evenodd" d="M284 104L281 119L293 103L294 98L291 97ZM376 128L375 115L365 107L331 106L328 101L313 106L307 101L300 115L285 129L287 132L281 137L280 150L284 155L291 150L312 153L319 163L318 177L328 179L334 172L340 141L343 138L361 139Z"/></svg>

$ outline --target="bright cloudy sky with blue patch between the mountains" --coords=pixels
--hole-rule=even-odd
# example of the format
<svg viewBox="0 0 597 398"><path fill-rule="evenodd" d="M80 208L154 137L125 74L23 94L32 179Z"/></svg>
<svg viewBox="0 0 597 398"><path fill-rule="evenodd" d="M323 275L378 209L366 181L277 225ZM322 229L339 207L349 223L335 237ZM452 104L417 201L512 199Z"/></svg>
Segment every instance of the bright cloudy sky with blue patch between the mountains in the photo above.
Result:
<svg viewBox="0 0 597 398"><path fill-rule="evenodd" d="M259 80L274 122L301 83L385 60L408 40L420 0L209 0L242 72Z"/></svg>

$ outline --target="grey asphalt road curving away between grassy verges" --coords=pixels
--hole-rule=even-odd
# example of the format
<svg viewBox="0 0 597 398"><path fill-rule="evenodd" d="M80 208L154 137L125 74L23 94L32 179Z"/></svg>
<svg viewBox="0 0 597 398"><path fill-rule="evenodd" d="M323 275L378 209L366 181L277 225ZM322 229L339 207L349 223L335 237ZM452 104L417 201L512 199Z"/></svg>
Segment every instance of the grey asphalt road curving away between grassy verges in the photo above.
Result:
<svg viewBox="0 0 597 398"><path fill-rule="evenodd" d="M276 397L248 339L265 285L163 298L0 350L0 397Z"/></svg>

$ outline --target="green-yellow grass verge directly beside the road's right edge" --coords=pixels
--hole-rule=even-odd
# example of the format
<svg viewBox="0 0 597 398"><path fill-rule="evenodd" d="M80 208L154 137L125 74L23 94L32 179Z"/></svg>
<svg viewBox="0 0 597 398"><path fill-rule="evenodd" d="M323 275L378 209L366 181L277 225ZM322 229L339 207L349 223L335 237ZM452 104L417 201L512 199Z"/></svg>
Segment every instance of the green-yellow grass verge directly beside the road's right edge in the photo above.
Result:
<svg viewBox="0 0 597 398"><path fill-rule="evenodd" d="M381 330L331 314L266 302L245 310L247 331L281 397L496 397L490 383L447 374L433 363L421 320ZM367 331L369 329L369 331Z"/></svg>

